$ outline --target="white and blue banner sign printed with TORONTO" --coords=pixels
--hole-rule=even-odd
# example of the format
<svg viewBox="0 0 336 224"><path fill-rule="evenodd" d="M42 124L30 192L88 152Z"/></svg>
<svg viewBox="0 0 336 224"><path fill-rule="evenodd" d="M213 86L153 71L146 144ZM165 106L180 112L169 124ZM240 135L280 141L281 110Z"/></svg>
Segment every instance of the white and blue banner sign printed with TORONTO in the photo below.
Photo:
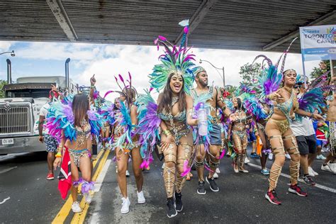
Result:
<svg viewBox="0 0 336 224"><path fill-rule="evenodd" d="M303 62L336 60L336 25L301 27L300 41Z"/></svg>

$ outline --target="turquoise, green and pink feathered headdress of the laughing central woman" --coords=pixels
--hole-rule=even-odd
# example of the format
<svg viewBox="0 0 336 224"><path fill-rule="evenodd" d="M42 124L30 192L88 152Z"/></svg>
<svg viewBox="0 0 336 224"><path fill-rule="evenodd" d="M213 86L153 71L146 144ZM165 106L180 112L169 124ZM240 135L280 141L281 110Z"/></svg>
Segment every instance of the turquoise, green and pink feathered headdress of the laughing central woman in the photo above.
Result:
<svg viewBox="0 0 336 224"><path fill-rule="evenodd" d="M184 35L181 40L181 45L177 47L170 43L167 38L159 36L155 40L155 45L157 45L157 50L159 50L159 45L164 47L164 54L159 56L161 64L155 65L152 69L152 74L148 77L150 78L150 86L157 91L161 91L167 84L167 80L170 74L177 74L184 78L184 91L187 94L190 93L190 89L194 82L194 69L193 67L194 56L189 53L190 48L186 47L188 35L187 21L182 21L181 26L184 26Z"/></svg>

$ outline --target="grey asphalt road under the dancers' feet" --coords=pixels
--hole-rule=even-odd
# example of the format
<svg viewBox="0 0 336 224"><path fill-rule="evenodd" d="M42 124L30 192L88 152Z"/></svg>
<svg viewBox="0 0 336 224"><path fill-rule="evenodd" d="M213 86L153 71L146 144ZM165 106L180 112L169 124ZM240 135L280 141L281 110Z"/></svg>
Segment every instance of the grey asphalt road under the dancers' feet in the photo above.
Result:
<svg viewBox="0 0 336 224"><path fill-rule="evenodd" d="M113 153L108 156L108 163ZM0 223L50 223L64 201L57 190L57 180L45 179L46 153L27 153L0 157ZM259 165L259 159L250 159ZM335 223L336 175L320 170L321 160L313 169L319 187L301 184L308 197L289 194L289 179L280 177L277 188L283 205L274 206L264 199L267 177L259 168L247 165L249 174L235 174L229 158L220 163L217 180L219 192L196 193L197 177L187 181L182 191L184 210L175 218L167 218L166 196L162 180L162 163L155 159L149 172L144 172L145 204L136 204L136 187L131 167L128 178L130 213L122 215L121 195L116 181L114 162L107 167L100 191L94 194L86 214L86 223ZM270 167L271 162L267 166ZM130 164L131 166L131 164ZM289 174L287 161L282 173ZM102 177L101 177L102 178ZM326 187L326 188L325 188ZM329 190L326 190L329 187ZM334 190L332 190L334 189ZM72 220L70 212L65 223Z"/></svg>

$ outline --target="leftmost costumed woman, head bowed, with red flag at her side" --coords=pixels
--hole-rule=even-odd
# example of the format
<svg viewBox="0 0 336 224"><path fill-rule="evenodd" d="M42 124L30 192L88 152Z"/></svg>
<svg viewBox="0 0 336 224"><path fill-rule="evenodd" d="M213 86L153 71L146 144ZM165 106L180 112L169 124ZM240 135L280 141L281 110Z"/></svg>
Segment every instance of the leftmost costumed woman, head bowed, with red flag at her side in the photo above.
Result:
<svg viewBox="0 0 336 224"><path fill-rule="evenodd" d="M62 167L58 188L62 198L67 196L71 188L72 211L82 212L77 201L79 184L82 184L82 194L86 203L91 202L91 190L94 183L91 181L91 138L99 135L101 116L89 108L89 98L86 94L67 96L64 103L52 103L47 113L47 128L60 142L54 167ZM63 150L65 148L65 150ZM71 169L70 169L71 167ZM79 169L82 178L79 179Z"/></svg>

